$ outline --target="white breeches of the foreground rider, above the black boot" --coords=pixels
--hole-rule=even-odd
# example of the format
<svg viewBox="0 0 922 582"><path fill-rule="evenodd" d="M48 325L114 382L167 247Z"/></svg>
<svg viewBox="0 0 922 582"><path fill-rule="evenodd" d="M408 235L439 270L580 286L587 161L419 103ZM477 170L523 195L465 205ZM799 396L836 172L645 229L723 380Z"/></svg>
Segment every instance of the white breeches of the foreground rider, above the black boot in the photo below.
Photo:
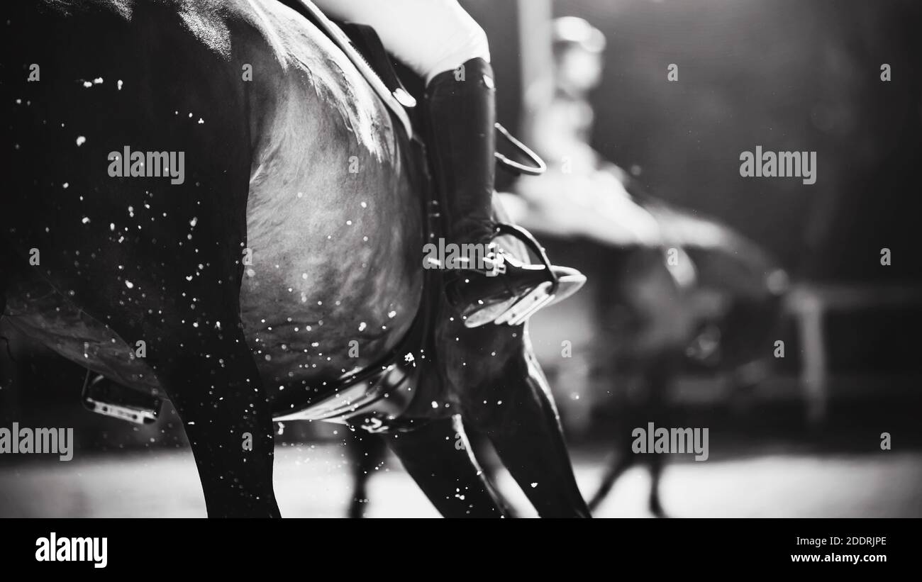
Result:
<svg viewBox="0 0 922 582"><path fill-rule="evenodd" d="M457 0L314 0L339 20L371 25L426 83L470 59L490 62L487 35Z"/></svg>

